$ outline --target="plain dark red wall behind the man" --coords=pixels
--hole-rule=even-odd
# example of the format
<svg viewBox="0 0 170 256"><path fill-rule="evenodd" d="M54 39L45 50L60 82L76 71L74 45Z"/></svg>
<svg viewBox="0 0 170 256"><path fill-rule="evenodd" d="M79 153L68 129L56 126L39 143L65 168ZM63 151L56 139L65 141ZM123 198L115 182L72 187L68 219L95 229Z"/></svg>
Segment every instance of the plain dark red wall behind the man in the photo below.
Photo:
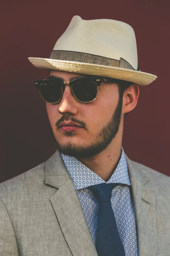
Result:
<svg viewBox="0 0 170 256"><path fill-rule="evenodd" d="M49 58L71 18L115 19L130 24L142 71L157 75L140 87L138 105L125 120L123 147L130 159L169 172L170 1L4 1L1 3L0 182L46 161L56 150L45 102L33 81L47 71L28 57Z"/></svg>

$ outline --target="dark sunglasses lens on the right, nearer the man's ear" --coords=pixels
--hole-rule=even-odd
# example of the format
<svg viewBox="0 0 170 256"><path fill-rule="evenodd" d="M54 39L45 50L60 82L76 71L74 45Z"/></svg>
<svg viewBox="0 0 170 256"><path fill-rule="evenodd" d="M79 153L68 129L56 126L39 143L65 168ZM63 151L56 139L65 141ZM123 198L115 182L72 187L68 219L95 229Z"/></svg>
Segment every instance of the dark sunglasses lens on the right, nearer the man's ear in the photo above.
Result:
<svg viewBox="0 0 170 256"><path fill-rule="evenodd" d="M82 102L93 101L97 96L97 86L93 81L80 81L72 85L75 97Z"/></svg>

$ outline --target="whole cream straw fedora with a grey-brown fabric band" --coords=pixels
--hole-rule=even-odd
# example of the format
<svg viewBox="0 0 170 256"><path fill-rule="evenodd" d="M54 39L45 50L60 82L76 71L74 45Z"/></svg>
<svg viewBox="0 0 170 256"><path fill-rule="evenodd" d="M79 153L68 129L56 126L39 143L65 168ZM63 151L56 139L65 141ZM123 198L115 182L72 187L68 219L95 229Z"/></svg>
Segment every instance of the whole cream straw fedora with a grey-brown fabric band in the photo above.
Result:
<svg viewBox="0 0 170 256"><path fill-rule="evenodd" d="M37 68L111 77L148 85L157 76L141 72L133 28L121 21L74 16L50 58L28 58Z"/></svg>

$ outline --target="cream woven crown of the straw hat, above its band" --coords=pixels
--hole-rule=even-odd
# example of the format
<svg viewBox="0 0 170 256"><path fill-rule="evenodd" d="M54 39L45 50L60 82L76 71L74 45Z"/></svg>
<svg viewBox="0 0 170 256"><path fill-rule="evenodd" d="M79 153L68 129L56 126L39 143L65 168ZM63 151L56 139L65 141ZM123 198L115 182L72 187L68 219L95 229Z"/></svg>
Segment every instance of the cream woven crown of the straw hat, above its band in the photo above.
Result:
<svg viewBox="0 0 170 256"><path fill-rule="evenodd" d="M130 25L116 20L83 20L76 15L53 51L81 52L113 60L121 58L135 70L138 67L135 32Z"/></svg>

